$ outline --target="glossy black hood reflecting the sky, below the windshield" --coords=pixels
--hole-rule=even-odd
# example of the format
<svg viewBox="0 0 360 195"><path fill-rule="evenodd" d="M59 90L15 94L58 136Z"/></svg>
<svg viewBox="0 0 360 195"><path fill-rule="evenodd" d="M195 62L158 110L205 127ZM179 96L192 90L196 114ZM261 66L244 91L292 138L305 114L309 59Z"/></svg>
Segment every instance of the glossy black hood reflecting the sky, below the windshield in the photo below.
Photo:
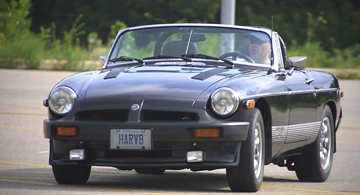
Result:
<svg viewBox="0 0 360 195"><path fill-rule="evenodd" d="M122 69L122 68L120 68ZM216 70L215 70L216 69ZM130 104L192 107L209 86L248 70L214 67L142 66L96 74L87 87L84 105ZM211 74L213 73L213 74Z"/></svg>

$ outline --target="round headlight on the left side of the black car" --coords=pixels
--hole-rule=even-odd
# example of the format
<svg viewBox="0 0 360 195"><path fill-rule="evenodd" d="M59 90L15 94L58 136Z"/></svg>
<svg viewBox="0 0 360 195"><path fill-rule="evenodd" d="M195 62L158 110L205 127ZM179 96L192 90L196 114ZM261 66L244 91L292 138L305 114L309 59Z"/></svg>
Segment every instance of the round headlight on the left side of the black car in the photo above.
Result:
<svg viewBox="0 0 360 195"><path fill-rule="evenodd" d="M50 109L60 115L67 114L74 103L78 95L69 87L58 87L50 94L49 106Z"/></svg>

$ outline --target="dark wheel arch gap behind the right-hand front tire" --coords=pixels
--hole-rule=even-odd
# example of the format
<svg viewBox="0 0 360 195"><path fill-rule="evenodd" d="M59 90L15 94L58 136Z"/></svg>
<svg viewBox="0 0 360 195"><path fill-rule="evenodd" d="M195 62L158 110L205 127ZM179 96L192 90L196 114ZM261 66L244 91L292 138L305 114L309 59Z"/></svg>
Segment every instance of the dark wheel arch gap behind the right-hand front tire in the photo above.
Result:
<svg viewBox="0 0 360 195"><path fill-rule="evenodd" d="M265 165L272 162L272 116L270 107L264 97L260 97L255 104L261 112L265 132Z"/></svg>

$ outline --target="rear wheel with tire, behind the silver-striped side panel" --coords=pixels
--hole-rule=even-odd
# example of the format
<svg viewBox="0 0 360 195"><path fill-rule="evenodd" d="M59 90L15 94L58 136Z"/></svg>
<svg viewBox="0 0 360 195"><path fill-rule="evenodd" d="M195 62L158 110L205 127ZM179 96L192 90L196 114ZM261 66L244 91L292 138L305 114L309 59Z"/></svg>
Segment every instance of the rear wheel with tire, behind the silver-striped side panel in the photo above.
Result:
<svg viewBox="0 0 360 195"><path fill-rule="evenodd" d="M300 181L325 182L328 179L333 161L334 138L333 116L330 107L326 105L316 141L306 146L295 161L296 176Z"/></svg>

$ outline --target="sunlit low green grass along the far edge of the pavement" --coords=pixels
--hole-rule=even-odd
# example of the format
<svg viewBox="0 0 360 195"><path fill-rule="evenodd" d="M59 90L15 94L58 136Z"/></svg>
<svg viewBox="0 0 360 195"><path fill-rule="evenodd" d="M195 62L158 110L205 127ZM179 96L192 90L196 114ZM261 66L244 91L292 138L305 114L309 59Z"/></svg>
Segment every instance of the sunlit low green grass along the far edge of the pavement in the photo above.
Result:
<svg viewBox="0 0 360 195"><path fill-rule="evenodd" d="M94 70L100 68L99 55L109 50L110 45L103 44L92 48L60 40L49 44L49 40L29 32L0 42L0 68ZM287 56L307 56L310 69L325 68L339 79L360 80L360 44L333 52L324 50L320 43L293 44L287 48Z"/></svg>

